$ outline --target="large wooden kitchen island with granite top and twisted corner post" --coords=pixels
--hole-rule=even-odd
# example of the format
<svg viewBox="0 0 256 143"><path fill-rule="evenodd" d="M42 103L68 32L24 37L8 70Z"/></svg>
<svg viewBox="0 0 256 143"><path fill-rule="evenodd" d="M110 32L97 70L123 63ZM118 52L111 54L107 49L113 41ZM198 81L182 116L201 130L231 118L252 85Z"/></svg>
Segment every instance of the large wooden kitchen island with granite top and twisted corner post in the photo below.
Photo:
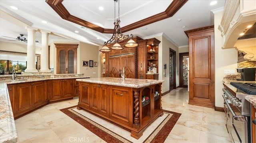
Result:
<svg viewBox="0 0 256 143"><path fill-rule="evenodd" d="M164 80L134 78L80 78L78 110L84 109L131 131L139 139L163 115L161 86Z"/></svg>

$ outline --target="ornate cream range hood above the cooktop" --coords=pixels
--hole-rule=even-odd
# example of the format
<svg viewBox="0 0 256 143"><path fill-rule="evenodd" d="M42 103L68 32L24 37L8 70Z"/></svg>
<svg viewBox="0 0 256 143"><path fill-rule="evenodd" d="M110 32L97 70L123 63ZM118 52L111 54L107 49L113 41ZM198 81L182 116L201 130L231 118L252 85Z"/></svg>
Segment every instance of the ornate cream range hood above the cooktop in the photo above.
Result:
<svg viewBox="0 0 256 143"><path fill-rule="evenodd" d="M244 35L248 25L256 23L256 0L226 0L223 16L218 29L223 37L222 49L236 48L244 53L244 59L256 61L256 37ZM254 27L255 28L255 27ZM255 33L255 31L254 31Z"/></svg>

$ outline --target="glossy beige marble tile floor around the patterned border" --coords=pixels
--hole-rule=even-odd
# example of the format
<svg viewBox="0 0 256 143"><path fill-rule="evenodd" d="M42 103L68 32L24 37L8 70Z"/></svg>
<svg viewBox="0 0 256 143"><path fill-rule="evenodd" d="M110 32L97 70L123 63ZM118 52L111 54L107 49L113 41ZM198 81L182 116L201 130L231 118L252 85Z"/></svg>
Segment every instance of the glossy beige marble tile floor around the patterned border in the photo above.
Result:
<svg viewBox="0 0 256 143"><path fill-rule="evenodd" d="M230 143L224 113L188 104L187 88L162 96L162 108L181 113L165 143ZM44 106L16 119L20 143L105 143L59 109L77 105L78 99ZM79 139L79 141L78 141Z"/></svg>

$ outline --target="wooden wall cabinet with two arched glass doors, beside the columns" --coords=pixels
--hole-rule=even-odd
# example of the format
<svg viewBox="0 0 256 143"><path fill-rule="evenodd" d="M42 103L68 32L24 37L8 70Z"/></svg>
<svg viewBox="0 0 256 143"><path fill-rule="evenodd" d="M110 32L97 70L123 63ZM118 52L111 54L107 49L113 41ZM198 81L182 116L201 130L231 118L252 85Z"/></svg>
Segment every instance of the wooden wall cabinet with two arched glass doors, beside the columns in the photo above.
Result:
<svg viewBox="0 0 256 143"><path fill-rule="evenodd" d="M55 44L57 49L57 74L74 74L77 69L78 44Z"/></svg>

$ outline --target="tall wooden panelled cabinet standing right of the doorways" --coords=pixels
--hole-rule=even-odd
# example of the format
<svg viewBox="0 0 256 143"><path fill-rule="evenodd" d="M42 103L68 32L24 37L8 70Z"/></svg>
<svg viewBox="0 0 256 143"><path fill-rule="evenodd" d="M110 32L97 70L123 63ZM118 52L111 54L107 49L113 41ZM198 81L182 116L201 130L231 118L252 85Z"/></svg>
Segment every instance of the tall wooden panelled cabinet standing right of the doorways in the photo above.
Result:
<svg viewBox="0 0 256 143"><path fill-rule="evenodd" d="M185 31L189 38L189 102L215 107L214 25Z"/></svg>

